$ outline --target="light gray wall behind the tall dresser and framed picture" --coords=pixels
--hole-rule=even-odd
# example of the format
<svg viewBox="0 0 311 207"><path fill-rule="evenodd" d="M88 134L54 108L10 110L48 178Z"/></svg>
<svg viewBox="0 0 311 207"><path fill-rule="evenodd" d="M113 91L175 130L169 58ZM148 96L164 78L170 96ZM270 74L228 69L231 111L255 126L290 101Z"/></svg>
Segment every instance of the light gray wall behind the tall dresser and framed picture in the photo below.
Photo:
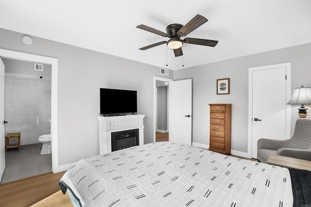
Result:
<svg viewBox="0 0 311 207"><path fill-rule="evenodd" d="M247 152L248 141L248 68L292 63L292 94L294 88L311 86L311 43L277 49L174 71L174 80L192 79L193 111L192 142L209 144L209 103L232 104L233 150ZM208 58L208 57L207 57ZM230 78L230 94L216 95L216 80ZM271 103L271 107L274 106ZM291 133L298 118L299 106L292 106ZM308 106L307 106L308 107ZM309 116L311 118L311 106ZM204 134L207 130L207 134Z"/></svg>

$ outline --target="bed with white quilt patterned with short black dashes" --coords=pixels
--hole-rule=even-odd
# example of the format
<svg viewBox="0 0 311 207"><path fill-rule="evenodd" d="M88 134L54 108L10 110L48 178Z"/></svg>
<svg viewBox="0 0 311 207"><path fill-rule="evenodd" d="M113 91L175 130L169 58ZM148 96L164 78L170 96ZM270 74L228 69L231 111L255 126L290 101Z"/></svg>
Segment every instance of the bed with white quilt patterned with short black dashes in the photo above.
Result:
<svg viewBox="0 0 311 207"><path fill-rule="evenodd" d="M59 187L81 207L306 207L310 182L310 171L159 142L81 159Z"/></svg>

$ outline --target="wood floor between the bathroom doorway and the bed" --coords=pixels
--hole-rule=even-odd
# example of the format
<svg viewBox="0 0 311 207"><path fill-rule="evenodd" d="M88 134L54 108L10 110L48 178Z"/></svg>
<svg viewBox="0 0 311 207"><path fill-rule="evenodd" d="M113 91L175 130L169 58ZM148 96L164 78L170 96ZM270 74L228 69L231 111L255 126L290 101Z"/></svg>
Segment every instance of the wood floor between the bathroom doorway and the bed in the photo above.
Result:
<svg viewBox="0 0 311 207"><path fill-rule="evenodd" d="M58 181L64 174L46 173L0 184L0 207L30 207L59 191Z"/></svg>

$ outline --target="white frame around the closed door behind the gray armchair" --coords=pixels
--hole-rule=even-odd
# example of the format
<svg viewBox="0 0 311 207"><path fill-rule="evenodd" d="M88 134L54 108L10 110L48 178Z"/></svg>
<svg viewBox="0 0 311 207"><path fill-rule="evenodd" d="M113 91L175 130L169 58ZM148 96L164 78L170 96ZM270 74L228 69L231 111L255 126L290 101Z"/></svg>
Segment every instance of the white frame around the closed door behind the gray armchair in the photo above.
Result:
<svg viewBox="0 0 311 207"><path fill-rule="evenodd" d="M248 145L247 145L247 156L248 158L252 157L252 134L253 134L253 71L258 70L269 70L273 68L286 67L286 102L291 99L292 96L292 64L283 63L283 64L273 64L265 65L259 67L250 67L248 68ZM285 139L291 138L291 105L286 105L286 132Z"/></svg>

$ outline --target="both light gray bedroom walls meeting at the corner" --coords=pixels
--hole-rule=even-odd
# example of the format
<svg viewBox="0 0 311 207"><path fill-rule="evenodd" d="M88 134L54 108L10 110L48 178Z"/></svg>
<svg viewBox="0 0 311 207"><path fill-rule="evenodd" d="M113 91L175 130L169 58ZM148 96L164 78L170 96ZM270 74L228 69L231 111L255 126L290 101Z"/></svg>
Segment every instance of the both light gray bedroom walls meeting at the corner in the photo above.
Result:
<svg viewBox="0 0 311 207"><path fill-rule="evenodd" d="M311 43L183 68L170 71L170 75L165 76L160 75L159 68L153 65L34 36L33 44L25 45L21 41L23 36L22 33L0 29L0 48L59 60L59 165L99 154L97 116L101 87L138 91L138 113L146 115L144 141L151 143L154 135L154 76L192 79L192 142L209 143L209 103L232 103L232 149L247 152L248 68L291 62L292 93L295 87L311 86ZM223 78L230 78L230 95L216 95L216 79ZM271 106L275 107L273 103ZM292 107L292 133L298 117L296 108L298 106ZM204 134L205 130L207 134Z"/></svg>

